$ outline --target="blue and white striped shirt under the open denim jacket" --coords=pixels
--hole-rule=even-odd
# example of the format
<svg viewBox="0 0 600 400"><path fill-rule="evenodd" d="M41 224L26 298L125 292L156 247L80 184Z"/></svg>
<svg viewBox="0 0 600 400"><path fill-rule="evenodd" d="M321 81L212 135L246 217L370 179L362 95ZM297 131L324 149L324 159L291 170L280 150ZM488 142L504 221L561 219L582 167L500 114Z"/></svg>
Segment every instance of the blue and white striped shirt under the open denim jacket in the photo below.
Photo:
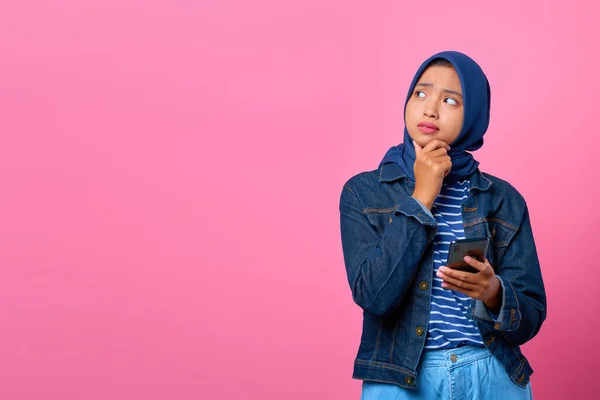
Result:
<svg viewBox="0 0 600 400"><path fill-rule="evenodd" d="M442 288L442 279L435 274L446 265L448 249L453 240L464 239L462 203L469 197L469 181L443 185L431 209L437 221L433 241L433 284L429 328L425 349L451 349L462 345L483 346L479 329L467 316L471 298Z"/></svg>

